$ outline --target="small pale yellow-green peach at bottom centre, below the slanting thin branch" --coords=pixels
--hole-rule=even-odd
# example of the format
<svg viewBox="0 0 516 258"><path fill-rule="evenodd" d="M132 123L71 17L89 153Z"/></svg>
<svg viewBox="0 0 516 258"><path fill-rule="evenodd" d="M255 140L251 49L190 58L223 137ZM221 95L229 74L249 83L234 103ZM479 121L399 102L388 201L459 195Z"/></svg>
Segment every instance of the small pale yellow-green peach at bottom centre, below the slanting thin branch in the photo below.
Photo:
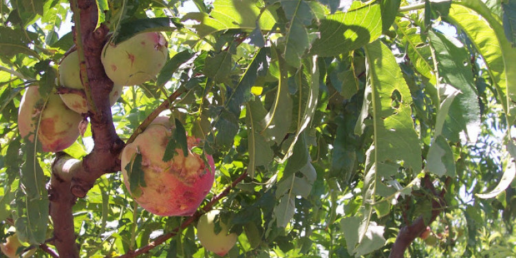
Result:
<svg viewBox="0 0 516 258"><path fill-rule="evenodd" d="M228 227L222 221L219 221L220 232L215 234L215 216L219 213L219 210L211 210L199 218L197 237L199 237L199 241L204 248L215 252L217 255L224 256L235 246L237 234L228 234Z"/></svg>

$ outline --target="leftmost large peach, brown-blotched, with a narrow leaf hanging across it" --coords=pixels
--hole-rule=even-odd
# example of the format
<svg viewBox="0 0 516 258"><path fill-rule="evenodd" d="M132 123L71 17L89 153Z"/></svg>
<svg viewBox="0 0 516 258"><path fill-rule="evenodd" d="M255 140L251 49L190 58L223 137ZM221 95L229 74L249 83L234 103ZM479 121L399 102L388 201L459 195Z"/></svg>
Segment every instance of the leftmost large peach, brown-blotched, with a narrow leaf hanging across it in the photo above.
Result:
<svg viewBox="0 0 516 258"><path fill-rule="evenodd" d="M39 87L28 87L18 110L21 137L34 140L36 122L39 122L38 140L43 151L63 151L79 136L78 125L83 117L69 109L57 94L50 94L47 103L39 94Z"/></svg>

